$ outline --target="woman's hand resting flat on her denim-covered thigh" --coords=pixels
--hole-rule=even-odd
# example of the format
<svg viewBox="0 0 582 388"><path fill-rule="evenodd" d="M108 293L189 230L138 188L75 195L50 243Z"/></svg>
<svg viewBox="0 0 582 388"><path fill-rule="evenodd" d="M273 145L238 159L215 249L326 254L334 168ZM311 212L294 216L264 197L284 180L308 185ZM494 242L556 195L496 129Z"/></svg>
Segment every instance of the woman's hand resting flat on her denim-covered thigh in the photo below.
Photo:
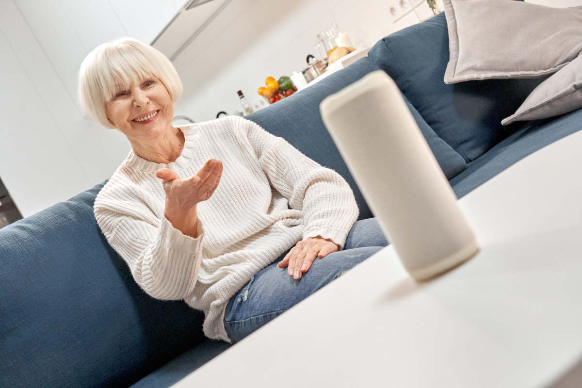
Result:
<svg viewBox="0 0 582 388"><path fill-rule="evenodd" d="M277 266L288 268L289 276L301 279L303 273L311 268L311 263L316 257L321 259L325 255L338 251L338 249L338 245L332 240L324 240L319 236L301 240Z"/></svg>

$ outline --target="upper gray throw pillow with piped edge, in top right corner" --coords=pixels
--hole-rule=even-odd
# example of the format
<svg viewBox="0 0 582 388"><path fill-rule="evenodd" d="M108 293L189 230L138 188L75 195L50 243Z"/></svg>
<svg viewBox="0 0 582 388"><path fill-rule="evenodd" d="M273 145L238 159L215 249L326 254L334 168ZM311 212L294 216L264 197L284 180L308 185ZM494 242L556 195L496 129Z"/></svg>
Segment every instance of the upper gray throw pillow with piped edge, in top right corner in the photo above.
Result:
<svg viewBox="0 0 582 388"><path fill-rule="evenodd" d="M555 73L582 51L582 10L509 0L443 0L445 83Z"/></svg>

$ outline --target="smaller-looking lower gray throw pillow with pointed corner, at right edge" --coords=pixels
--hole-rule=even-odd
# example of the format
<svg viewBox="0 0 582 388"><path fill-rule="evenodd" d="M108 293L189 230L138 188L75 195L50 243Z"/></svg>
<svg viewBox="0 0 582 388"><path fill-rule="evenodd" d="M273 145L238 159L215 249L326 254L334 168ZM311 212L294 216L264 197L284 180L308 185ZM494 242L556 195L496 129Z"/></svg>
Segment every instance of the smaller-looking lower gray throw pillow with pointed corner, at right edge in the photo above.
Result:
<svg viewBox="0 0 582 388"><path fill-rule="evenodd" d="M503 125L546 119L582 108L582 55L538 85Z"/></svg>

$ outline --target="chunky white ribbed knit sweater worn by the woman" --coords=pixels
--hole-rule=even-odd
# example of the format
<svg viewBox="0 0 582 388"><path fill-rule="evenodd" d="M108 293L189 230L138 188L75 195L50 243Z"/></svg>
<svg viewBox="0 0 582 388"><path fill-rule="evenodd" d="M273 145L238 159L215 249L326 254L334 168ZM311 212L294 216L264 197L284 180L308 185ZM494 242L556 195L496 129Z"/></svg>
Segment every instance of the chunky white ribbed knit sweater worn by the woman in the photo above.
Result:
<svg viewBox="0 0 582 388"><path fill-rule="evenodd" d="M301 239L343 246L358 208L338 173L249 120L230 116L180 129L186 143L173 163L130 153L97 195L95 218L146 293L203 310L206 336L229 341L229 298ZM193 239L165 219L155 172L169 168L187 178L211 158L222 161L222 178L197 206Z"/></svg>

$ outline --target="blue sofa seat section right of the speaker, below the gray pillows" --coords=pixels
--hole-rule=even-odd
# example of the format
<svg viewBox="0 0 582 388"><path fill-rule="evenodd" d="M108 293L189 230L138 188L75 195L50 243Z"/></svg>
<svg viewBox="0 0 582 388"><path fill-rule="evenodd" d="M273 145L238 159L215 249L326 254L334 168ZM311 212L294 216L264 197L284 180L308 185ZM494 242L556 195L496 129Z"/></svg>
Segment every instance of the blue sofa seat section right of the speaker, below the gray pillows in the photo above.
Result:
<svg viewBox="0 0 582 388"><path fill-rule="evenodd" d="M515 133L469 163L467 169L449 183L461 198L527 155L580 129L582 109L558 118L523 123Z"/></svg>

